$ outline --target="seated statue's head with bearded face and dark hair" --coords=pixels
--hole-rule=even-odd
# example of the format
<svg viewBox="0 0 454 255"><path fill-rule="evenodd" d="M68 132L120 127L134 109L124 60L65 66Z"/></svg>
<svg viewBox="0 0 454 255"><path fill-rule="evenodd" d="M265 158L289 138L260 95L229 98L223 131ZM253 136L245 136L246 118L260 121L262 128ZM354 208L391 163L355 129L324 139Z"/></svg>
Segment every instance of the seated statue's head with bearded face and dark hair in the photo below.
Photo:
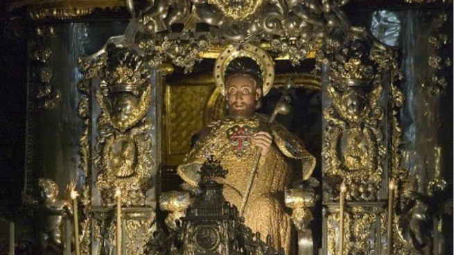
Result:
<svg viewBox="0 0 454 255"><path fill-rule="evenodd" d="M249 118L263 95L259 65L251 58L232 60L225 71L226 100L229 116L236 119Z"/></svg>

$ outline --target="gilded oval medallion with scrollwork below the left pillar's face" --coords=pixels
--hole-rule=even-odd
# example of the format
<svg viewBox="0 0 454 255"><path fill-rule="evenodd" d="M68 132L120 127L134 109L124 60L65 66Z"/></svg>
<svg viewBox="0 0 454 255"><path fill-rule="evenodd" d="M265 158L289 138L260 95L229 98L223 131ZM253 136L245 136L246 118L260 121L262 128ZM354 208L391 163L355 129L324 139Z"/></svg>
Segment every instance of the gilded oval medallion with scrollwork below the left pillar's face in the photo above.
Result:
<svg viewBox="0 0 454 255"><path fill-rule="evenodd" d="M103 204L115 203L114 191L121 188L126 206L143 206L146 192L151 188L150 167L152 160L148 118L132 128L128 134L113 132L105 138L101 151L101 173L96 187L101 190Z"/></svg>

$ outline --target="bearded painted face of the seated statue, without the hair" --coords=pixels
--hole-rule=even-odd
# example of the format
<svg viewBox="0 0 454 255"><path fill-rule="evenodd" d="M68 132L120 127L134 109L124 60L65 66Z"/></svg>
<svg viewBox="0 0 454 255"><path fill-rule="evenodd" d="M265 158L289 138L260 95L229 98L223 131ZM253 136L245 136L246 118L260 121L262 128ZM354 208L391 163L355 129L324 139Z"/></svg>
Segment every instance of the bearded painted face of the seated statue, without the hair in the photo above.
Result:
<svg viewBox="0 0 454 255"><path fill-rule="evenodd" d="M262 89L250 76L235 76L227 82L229 116L234 119L249 118L254 114Z"/></svg>

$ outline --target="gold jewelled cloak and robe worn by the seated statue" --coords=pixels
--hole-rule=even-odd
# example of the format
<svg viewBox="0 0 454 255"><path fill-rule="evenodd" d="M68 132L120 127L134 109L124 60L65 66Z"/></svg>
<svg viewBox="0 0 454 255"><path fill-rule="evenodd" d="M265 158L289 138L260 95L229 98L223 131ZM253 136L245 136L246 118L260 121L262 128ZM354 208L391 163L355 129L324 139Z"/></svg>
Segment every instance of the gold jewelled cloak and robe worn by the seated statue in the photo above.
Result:
<svg viewBox="0 0 454 255"><path fill-rule="evenodd" d="M270 152L261 157L256 177L245 206L244 218L247 227L260 232L262 239L272 237L274 247L290 250L290 216L284 206L283 191L289 176L286 157L302 161L303 179L308 179L315 168L315 157L304 149L302 141L282 125L268 123L267 117L254 114L251 118L235 121L225 118L210 128L186 155L177 172L185 182L197 186L200 181L198 170L209 155L220 161L228 170L224 184L225 199L239 208L247 187L254 161L253 134L267 130L272 134ZM285 157L286 156L286 157Z"/></svg>

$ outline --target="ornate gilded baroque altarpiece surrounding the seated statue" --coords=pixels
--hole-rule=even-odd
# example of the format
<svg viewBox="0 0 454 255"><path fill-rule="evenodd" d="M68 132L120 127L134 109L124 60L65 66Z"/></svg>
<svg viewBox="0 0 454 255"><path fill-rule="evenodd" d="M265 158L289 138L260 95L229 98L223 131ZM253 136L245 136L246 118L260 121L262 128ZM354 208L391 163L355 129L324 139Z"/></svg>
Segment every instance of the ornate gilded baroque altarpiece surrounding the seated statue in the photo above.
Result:
<svg viewBox="0 0 454 255"><path fill-rule="evenodd" d="M311 213L293 219L320 233L320 242L300 238L299 254L441 254L443 218L452 213L441 162L450 149L442 149L438 134L427 129L440 129L439 98L452 83L446 75L452 70L446 57L446 51L452 53L452 33L445 32L452 13L399 12L399 19L377 8L365 27L355 20L361 14L349 8L360 1L348 0L32 2L10 4L11 9L26 6L36 23L29 46L33 86L24 193L36 193L34 177L55 179L60 186L75 180L81 254L112 254L118 233L123 254L146 252L161 227L157 203L166 189L161 177L180 164L199 130L225 115L211 69L232 44L265 50L277 69L286 63L292 71L279 69L274 89L291 80L322 98L317 155L322 187L316 190L321 209L313 211L320 220L310 225ZM414 2L402 4L430 5ZM449 4L435 7L444 10ZM63 29L48 22L109 10L123 10L122 29L112 32L116 36L103 35L90 50L67 53L58 40L68 37L68 44L75 44L82 38L76 35L87 33L85 25ZM410 44L417 19L427 21L419 24L425 39L417 37L424 51ZM65 54L77 64L62 64ZM421 61L408 64L414 60ZM65 73L71 73L69 80ZM56 80L77 85L64 87ZM411 105L409 97L426 105ZM68 114L61 105L73 111ZM58 157L58 146L43 150L54 141L48 130L64 128L34 117L35 112L61 125L73 120L76 128L57 131L70 137L60 139L71 141L72 150L62 152L72 155L69 159ZM60 165L46 163L50 158L72 165L54 171ZM298 238L302 231L296 232Z"/></svg>

